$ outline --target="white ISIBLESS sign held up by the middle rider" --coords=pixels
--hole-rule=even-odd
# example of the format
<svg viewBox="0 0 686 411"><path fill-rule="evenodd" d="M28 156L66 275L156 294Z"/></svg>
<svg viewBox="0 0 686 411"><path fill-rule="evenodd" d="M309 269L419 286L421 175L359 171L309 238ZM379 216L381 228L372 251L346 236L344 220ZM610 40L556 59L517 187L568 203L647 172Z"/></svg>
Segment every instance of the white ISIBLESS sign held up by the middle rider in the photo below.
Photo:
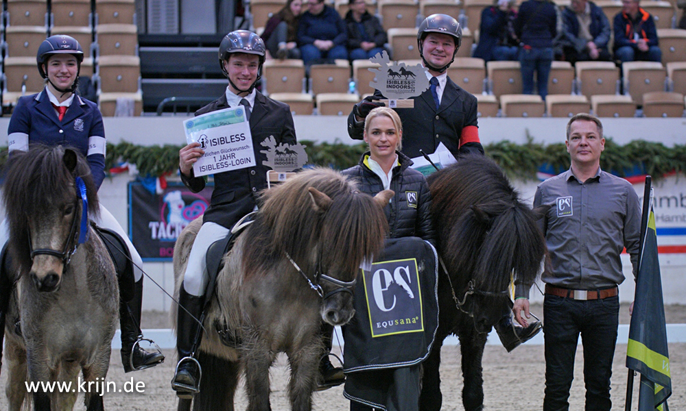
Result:
<svg viewBox="0 0 686 411"><path fill-rule="evenodd" d="M255 166L244 107L226 108L183 122L186 141L199 142L204 155L193 164L196 177Z"/></svg>

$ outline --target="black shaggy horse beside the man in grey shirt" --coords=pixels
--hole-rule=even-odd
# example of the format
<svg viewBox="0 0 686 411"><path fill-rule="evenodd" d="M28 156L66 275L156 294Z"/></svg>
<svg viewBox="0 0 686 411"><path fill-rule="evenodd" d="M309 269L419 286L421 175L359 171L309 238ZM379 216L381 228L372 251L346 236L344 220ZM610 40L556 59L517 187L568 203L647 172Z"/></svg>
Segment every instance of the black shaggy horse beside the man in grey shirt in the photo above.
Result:
<svg viewBox="0 0 686 411"><path fill-rule="evenodd" d="M460 158L432 174L431 216L447 275L438 277L436 344L424 363L421 410L440 410L440 347L460 338L462 404L482 410L482 356L491 327L508 303L512 275L531 284L545 253L537 214L520 199L497 164L482 155Z"/></svg>

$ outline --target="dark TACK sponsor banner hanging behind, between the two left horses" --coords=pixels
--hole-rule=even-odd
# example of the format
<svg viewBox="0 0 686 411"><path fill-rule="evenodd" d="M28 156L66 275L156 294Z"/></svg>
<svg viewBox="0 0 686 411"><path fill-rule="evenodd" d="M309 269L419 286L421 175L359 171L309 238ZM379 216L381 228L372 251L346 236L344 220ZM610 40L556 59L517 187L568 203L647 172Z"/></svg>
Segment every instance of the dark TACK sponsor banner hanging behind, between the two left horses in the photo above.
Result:
<svg viewBox="0 0 686 411"><path fill-rule="evenodd" d="M140 182L128 184L129 236L143 261L171 261L174 243L188 223L207 210L213 186L193 193L180 183L170 183L162 194Z"/></svg>

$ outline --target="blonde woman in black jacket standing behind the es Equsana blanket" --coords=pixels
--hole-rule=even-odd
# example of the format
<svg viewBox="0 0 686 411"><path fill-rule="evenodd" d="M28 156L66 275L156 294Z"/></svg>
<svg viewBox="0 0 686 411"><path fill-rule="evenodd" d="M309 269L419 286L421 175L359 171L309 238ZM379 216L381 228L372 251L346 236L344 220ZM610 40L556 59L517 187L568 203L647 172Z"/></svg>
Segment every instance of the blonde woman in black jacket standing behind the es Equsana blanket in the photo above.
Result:
<svg viewBox="0 0 686 411"><path fill-rule="evenodd" d="M375 108L366 117L364 125L364 140L369 145L369 151L362 155L357 166L343 173L357 179L359 189L370 195L386 189L395 192L384 208L390 238L414 236L433 244L429 186L422 173L410 168L412 160L400 152L402 136L403 128L398 114L390 108ZM364 292L355 292L356 299L364 299ZM428 300L422 300L424 306L431 303L431 299ZM368 323L370 319L357 318L362 315L364 314L357 312L346 327L365 327L362 324L365 321ZM362 358L364 356L357 356L355 353L368 350L364 343L359 343L355 334L357 332L352 329L344 332L346 358L348 354ZM384 343L386 350L404 351L402 338L384 338L390 338ZM344 396L351 399L351 411L372 410L372 406L389 411L418 410L421 361L422 355L426 353L424 351L400 354L399 358L403 360L396 363L370 360L364 362L358 371L348 370L350 372L346 374ZM370 358L378 360L379 356L372 355ZM346 365L349 365L347 360Z"/></svg>

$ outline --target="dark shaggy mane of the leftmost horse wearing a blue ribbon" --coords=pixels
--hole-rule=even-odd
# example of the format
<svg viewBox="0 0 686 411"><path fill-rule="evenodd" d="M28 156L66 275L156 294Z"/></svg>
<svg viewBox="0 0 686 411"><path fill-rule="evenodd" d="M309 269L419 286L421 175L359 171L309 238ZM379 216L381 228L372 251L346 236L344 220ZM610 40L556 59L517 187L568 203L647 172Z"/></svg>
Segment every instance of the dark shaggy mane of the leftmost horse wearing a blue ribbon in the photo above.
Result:
<svg viewBox="0 0 686 411"><path fill-rule="evenodd" d="M21 272L31 267L29 221L63 201L76 201L75 178L86 185L88 213L99 212L97 188L91 167L78 151L72 172L64 164L64 147L31 145L28 151L12 151L5 168L2 201L9 227L9 250ZM80 216L80 214L75 214ZM79 217L77 217L79 218Z"/></svg>

